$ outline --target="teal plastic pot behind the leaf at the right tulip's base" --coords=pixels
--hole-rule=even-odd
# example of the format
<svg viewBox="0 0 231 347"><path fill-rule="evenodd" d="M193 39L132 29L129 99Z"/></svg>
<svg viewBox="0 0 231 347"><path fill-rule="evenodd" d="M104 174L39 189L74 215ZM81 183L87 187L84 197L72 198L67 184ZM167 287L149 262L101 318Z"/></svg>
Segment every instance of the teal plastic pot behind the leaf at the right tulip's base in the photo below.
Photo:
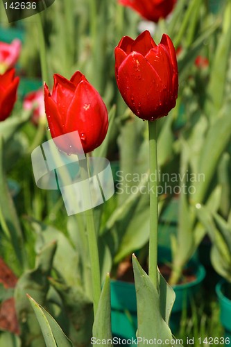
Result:
<svg viewBox="0 0 231 347"><path fill-rule="evenodd" d="M205 278L205 268L193 261L196 280L173 286L176 293L176 301L170 317L170 328L177 332L182 316L182 310L187 310L190 302L200 290L200 285ZM137 301L135 285L133 283L111 281L111 306L112 306L112 334L124 339L135 339L137 331Z"/></svg>

